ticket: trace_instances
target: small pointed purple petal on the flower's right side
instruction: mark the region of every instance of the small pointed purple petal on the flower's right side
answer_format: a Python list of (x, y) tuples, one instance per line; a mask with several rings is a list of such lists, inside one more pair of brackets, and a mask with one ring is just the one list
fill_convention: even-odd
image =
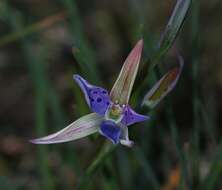
[(136, 113), (130, 106), (124, 108), (124, 116), (121, 121), (123, 125), (129, 126), (134, 123), (142, 122), (149, 119), (149, 116), (141, 115)]

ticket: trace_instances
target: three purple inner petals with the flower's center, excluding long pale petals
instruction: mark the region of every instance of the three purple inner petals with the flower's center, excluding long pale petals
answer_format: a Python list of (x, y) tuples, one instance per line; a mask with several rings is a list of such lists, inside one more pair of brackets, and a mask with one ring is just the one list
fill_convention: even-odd
[(100, 134), (114, 144), (132, 144), (125, 136), (127, 127), (149, 117), (136, 113), (129, 105), (119, 104), (118, 100), (113, 102), (106, 89), (89, 84), (79, 75), (74, 75), (74, 80), (82, 89), (90, 109), (104, 117), (99, 127)]

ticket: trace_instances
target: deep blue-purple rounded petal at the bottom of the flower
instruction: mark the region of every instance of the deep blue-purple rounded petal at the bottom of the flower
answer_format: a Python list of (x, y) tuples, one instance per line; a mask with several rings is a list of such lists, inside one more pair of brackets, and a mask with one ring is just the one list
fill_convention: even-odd
[(114, 122), (106, 120), (100, 125), (100, 134), (112, 141), (113, 144), (119, 143), (121, 129)]

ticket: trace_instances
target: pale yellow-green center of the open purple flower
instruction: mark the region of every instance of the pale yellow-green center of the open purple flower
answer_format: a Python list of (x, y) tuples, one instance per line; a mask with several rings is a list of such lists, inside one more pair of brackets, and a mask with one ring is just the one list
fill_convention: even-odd
[(124, 106), (121, 106), (118, 103), (112, 103), (106, 111), (106, 120), (112, 120), (115, 123), (119, 123), (123, 118), (123, 107)]

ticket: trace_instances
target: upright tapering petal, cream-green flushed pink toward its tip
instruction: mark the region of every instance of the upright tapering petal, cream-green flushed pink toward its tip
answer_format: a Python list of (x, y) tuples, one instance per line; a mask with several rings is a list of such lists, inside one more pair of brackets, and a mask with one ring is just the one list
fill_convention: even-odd
[(140, 40), (128, 55), (120, 74), (110, 92), (113, 102), (127, 104), (137, 75), (140, 57), (143, 49), (143, 40)]

